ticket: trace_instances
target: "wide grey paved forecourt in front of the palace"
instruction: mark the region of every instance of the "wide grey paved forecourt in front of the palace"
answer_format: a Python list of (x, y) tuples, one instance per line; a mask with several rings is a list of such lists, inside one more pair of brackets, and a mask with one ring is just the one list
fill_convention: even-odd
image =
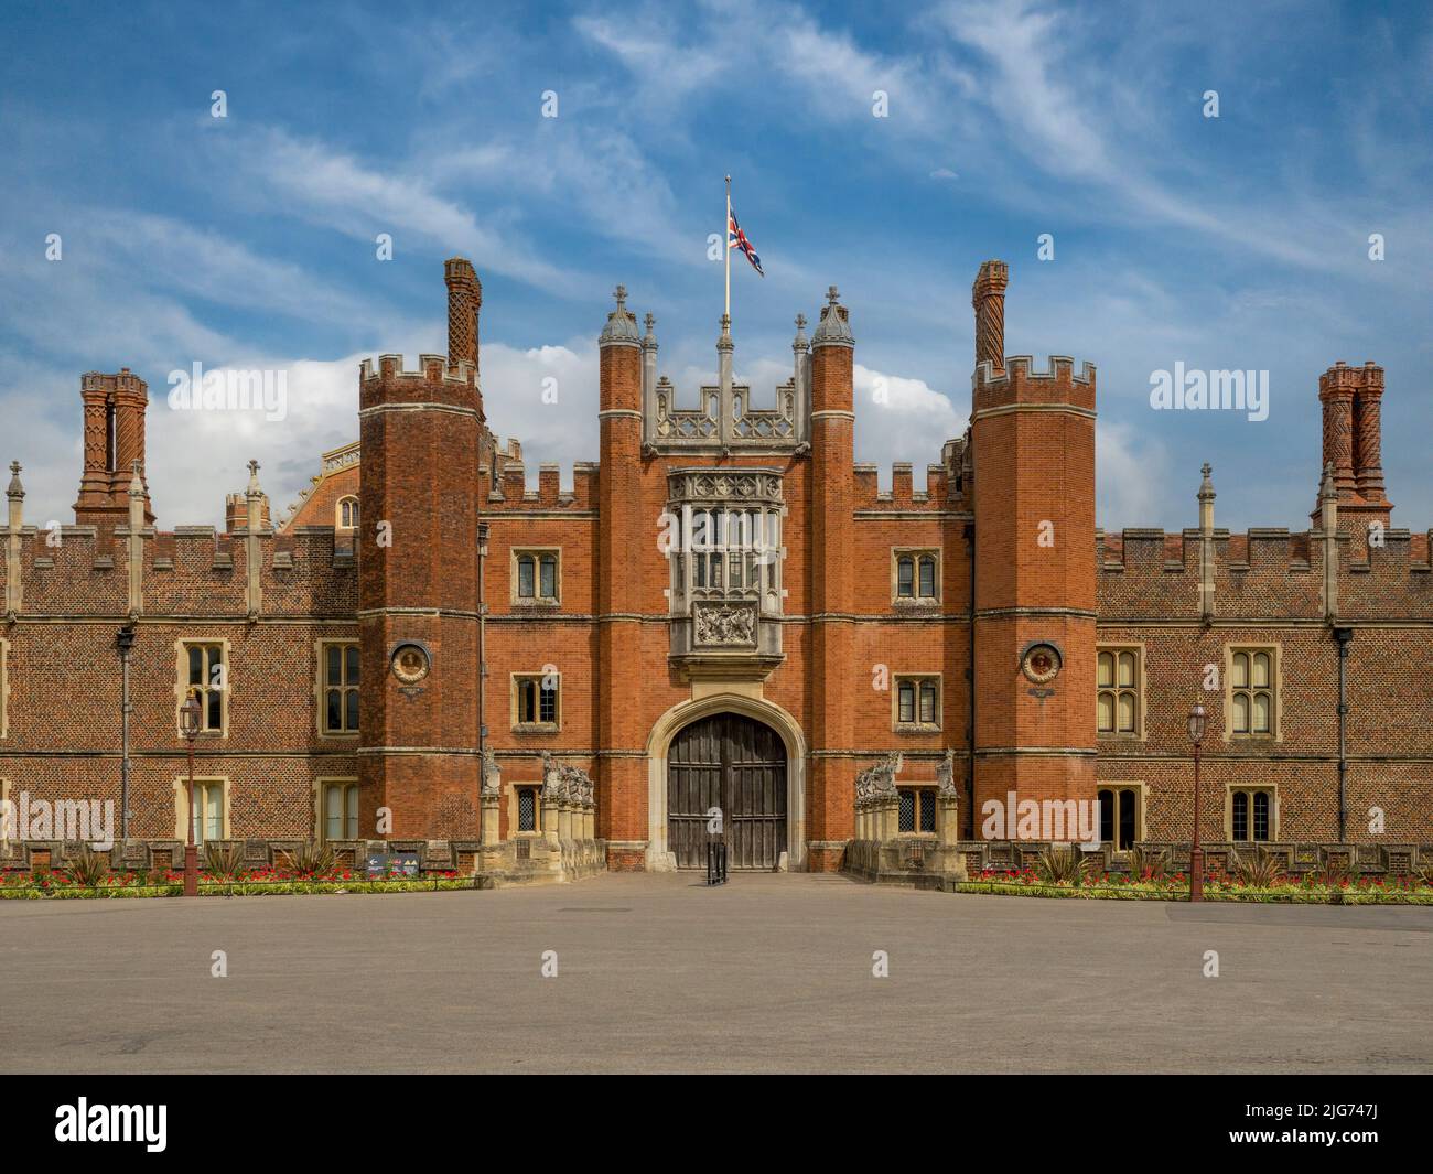
[(9, 900), (0, 989), (9, 1072), (1433, 1071), (1416, 907), (685, 873)]

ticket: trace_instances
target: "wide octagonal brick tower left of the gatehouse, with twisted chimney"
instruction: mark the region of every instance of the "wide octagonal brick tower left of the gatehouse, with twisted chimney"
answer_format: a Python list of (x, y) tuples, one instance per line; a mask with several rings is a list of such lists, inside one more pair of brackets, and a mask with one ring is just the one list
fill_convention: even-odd
[(450, 355), (358, 381), (360, 834), (476, 840), (480, 285), (447, 262)]

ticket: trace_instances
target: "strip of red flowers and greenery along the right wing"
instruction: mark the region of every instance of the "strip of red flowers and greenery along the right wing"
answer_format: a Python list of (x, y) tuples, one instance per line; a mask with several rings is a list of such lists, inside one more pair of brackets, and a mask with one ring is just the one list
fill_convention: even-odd
[[(1085, 897), (1088, 900), (1188, 900), (1184, 873), (1132, 877), (1091, 873), (1078, 884), (1043, 880), (1035, 869), (983, 872), (963, 880), (957, 893), (999, 893), (1022, 897)], [(1328, 882), (1320, 876), (1280, 876), (1270, 884), (1245, 884), (1230, 876), (1204, 882), (1205, 900), (1285, 905), (1433, 905), (1433, 886), (1420, 877), (1357, 877)]]

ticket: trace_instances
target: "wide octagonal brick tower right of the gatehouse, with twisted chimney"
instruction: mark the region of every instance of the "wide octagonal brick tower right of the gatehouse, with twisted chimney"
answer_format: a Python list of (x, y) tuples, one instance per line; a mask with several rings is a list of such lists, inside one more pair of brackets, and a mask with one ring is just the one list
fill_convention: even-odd
[(1005, 358), (1007, 277), (972, 291), (977, 836), (1009, 791), (1095, 797), (1095, 368)]

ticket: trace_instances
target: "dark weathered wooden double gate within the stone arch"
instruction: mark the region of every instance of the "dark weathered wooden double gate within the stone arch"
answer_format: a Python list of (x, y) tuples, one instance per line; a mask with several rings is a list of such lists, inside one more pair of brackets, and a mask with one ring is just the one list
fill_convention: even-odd
[(666, 753), (666, 844), (679, 869), (706, 867), (708, 811), (719, 807), (732, 869), (774, 869), (787, 850), (787, 750), (770, 725), (715, 714)]

